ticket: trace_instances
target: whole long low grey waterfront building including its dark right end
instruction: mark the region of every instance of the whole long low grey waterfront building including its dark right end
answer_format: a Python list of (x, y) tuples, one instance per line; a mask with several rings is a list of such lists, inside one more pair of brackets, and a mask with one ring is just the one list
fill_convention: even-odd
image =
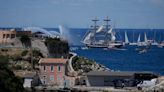
[(144, 80), (157, 78), (152, 72), (91, 71), (86, 74), (87, 86), (132, 87)]

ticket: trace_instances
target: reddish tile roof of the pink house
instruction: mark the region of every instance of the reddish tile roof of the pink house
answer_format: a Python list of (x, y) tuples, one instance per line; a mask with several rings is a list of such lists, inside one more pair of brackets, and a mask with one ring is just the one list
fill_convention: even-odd
[(65, 64), (68, 59), (63, 59), (63, 58), (41, 58), (39, 61), (39, 64)]

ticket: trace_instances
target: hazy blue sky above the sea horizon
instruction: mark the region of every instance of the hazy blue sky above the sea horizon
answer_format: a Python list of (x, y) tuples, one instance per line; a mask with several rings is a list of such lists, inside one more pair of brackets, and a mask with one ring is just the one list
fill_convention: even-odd
[(87, 28), (106, 16), (117, 28), (164, 28), (164, 0), (0, 0), (0, 27)]

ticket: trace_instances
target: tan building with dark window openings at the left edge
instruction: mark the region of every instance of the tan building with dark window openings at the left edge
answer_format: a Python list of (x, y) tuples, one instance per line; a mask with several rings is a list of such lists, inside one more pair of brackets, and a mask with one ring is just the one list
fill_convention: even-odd
[(0, 44), (13, 43), (13, 39), (16, 38), (15, 29), (11, 30), (0, 30)]

